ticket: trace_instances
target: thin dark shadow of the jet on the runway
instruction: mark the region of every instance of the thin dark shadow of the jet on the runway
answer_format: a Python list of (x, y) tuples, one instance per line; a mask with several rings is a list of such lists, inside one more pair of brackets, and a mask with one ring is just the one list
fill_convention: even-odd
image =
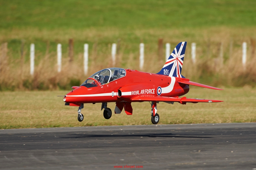
[[(188, 135), (188, 134), (172, 134), (172, 133), (162, 133), (162, 134), (129, 134), (129, 135), (93, 135), (93, 134), (69, 134), (70, 137), (60, 137), (60, 138), (82, 138), (82, 137), (185, 137), (185, 138), (214, 138), (214, 137), (198, 137), (193, 135), (199, 134), (189, 134), (189, 136), (177, 136), (177, 135)], [(207, 134), (200, 134), (200, 136), (205, 136)], [(75, 137), (71, 137), (75, 136)]]

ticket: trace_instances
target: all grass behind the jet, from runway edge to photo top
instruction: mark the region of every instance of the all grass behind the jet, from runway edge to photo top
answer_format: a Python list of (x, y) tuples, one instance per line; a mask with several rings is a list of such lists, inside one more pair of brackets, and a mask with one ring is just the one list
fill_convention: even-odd
[[(165, 47), (158, 55), (159, 38), (171, 49), (188, 42), (182, 75), (225, 89), (192, 87), (186, 95), (222, 103), (160, 103), (160, 123), (255, 122), (255, 30), (256, 1), (252, 0), (0, 0), (0, 128), (151, 124), (146, 102), (134, 103), (129, 119), (122, 113), (108, 121), (99, 115), (100, 106), (86, 105), (82, 112), (90, 121), (80, 123), (74, 116), (77, 108), (65, 107), (56, 97), (67, 91), (55, 90), (70, 90), (103, 68), (139, 70), (140, 42), (145, 44), (142, 71), (158, 72), (165, 63)], [(69, 39), (74, 40), (72, 62)], [(196, 64), (191, 60), (192, 42), (196, 42)], [(247, 42), (245, 67), (243, 42)], [(35, 44), (34, 76), (29, 74), (31, 43)], [(58, 43), (63, 57), (60, 73)], [(83, 70), (84, 43), (89, 44), (88, 75)], [(111, 63), (112, 43), (117, 43), (116, 65)], [(99, 110), (94, 111), (96, 107)]]

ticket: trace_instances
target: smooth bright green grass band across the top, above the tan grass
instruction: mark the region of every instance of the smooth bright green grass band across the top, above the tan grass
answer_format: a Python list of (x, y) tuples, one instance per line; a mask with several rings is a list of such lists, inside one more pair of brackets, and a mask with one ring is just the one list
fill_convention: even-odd
[(256, 26), (252, 0), (0, 1), (0, 29)]

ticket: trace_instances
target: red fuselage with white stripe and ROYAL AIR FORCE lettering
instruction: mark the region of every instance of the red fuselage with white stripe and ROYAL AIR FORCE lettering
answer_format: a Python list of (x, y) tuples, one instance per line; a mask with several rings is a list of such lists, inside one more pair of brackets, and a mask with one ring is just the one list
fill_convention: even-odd
[(179, 97), (189, 91), (189, 85), (178, 81), (189, 81), (186, 78), (170, 77), (137, 70), (125, 69), (126, 75), (95, 87), (83, 85), (69, 92), (64, 99), (66, 103), (103, 103), (131, 102), (136, 96)]

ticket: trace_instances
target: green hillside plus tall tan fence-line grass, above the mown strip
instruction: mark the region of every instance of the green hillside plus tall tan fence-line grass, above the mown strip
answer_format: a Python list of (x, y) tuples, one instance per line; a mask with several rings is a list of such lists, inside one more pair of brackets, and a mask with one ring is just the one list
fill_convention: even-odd
[[(80, 85), (97, 70), (114, 66), (112, 43), (119, 44), (115, 67), (138, 69), (143, 42), (142, 71), (155, 73), (165, 62), (164, 52), (158, 56), (159, 38), (171, 43), (171, 49), (180, 41), (188, 42), (185, 77), (208, 85), (256, 84), (256, 1), (0, 0), (0, 18), (0, 43), (8, 43), (6, 57), (0, 50), (0, 91)], [(74, 39), (73, 63), (68, 62), (70, 38)], [(195, 65), (191, 65), (192, 42), (197, 47)], [(247, 42), (246, 70), (241, 66), (243, 42)], [(29, 75), (31, 43), (35, 43), (34, 77)], [(56, 68), (58, 43), (62, 44), (61, 73)], [(84, 43), (89, 44), (88, 75), (82, 62)]]

